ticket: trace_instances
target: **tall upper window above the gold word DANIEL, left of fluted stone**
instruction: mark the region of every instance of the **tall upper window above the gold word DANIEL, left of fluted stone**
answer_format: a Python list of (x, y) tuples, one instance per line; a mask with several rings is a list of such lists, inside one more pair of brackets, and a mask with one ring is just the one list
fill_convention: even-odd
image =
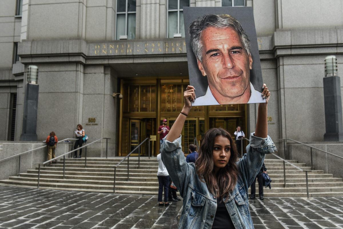
[(120, 35), (136, 38), (136, 0), (117, 0), (117, 40)]

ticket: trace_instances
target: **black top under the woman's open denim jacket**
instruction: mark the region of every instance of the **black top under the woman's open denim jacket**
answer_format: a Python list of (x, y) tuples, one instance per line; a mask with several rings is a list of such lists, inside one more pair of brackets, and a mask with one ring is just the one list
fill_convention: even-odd
[(221, 198), (217, 198), (217, 210), (215, 212), (212, 229), (235, 229), (224, 202), (221, 202)]

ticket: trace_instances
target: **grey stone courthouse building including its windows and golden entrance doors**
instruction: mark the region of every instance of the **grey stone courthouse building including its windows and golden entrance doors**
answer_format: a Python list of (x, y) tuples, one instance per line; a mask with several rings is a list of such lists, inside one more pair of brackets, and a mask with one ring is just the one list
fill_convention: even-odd
[[(29, 65), (38, 67), (38, 141), (72, 137), (80, 123), (125, 156), (163, 119), (171, 126), (189, 84), (185, 6), (253, 7), (269, 134), (323, 141), (324, 58), (343, 68), (341, 0), (2, 0), (0, 140), (20, 140)], [(257, 104), (193, 107), (182, 147), (212, 127), (248, 135), (256, 117)], [(158, 147), (157, 136), (154, 155)]]

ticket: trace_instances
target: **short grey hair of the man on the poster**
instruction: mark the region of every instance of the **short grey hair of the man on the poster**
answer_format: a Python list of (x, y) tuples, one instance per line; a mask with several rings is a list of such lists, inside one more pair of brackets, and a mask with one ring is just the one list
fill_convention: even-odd
[(191, 47), (194, 55), (198, 60), (202, 62), (202, 47), (200, 37), (201, 33), (205, 28), (210, 26), (216, 28), (233, 28), (238, 33), (241, 43), (245, 51), (250, 54), (250, 40), (248, 35), (244, 32), (240, 23), (228, 14), (208, 14), (203, 17), (199, 17), (197, 20), (193, 21), (189, 26), (188, 32), (191, 39)]

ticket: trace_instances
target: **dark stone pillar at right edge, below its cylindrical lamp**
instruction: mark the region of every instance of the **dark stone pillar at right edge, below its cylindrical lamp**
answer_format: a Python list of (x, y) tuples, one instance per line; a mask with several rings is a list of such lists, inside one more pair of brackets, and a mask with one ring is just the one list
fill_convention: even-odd
[(324, 77), (324, 141), (343, 142), (341, 81), (339, 76)]

